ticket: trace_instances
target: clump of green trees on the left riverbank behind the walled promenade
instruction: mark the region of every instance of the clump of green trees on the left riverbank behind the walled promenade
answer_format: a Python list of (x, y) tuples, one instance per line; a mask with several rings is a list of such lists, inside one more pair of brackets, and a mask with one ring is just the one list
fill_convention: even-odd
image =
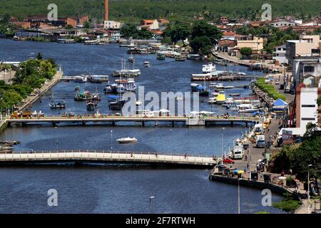
[(56, 74), (56, 63), (53, 59), (42, 59), (38, 54), (37, 59), (22, 62), (16, 69), (12, 84), (0, 81), (0, 110), (12, 110), (27, 95), (35, 89), (41, 88), (46, 80), (51, 80)]

